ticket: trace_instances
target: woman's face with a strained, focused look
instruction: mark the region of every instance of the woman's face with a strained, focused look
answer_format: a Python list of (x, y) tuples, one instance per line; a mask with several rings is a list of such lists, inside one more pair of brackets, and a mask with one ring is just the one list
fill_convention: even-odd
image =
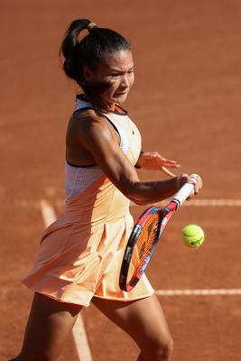
[(98, 63), (95, 70), (84, 67), (83, 74), (90, 83), (107, 82), (110, 86), (103, 91), (101, 98), (112, 108), (122, 104), (134, 83), (134, 61), (132, 51), (118, 51), (110, 54), (106, 62)]

